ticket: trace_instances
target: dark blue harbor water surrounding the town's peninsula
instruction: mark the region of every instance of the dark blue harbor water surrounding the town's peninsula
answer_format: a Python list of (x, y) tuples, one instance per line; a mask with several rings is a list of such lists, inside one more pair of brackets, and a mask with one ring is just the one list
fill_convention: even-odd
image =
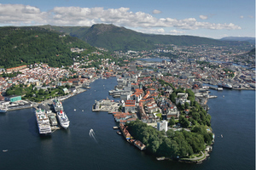
[(1, 113), (0, 169), (255, 169), (255, 91), (211, 90), (218, 96), (208, 101), (213, 151), (201, 164), (184, 164), (137, 150), (113, 129), (111, 114), (91, 111), (95, 100), (113, 99), (108, 90), (116, 84), (98, 79), (63, 101), (70, 126), (49, 137), (39, 136), (34, 109)]

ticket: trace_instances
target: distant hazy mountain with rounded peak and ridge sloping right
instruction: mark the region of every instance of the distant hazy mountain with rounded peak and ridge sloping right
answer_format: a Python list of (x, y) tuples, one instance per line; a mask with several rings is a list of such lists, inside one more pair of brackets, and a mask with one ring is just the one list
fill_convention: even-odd
[[(44, 28), (63, 31), (70, 36), (79, 37), (81, 40), (90, 43), (91, 46), (108, 48), (109, 50), (145, 50), (154, 49), (155, 44), (175, 44), (183, 46), (193, 45), (232, 45), (236, 42), (224, 42), (207, 37), (193, 36), (171, 36), (143, 34), (137, 31), (126, 29), (125, 27), (96, 24), (87, 26), (44, 26)], [(239, 42), (240, 44), (247, 42)]]

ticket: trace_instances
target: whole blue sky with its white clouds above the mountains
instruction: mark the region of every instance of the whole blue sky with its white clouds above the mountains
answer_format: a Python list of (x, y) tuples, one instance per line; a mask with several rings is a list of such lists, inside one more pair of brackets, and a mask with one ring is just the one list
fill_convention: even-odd
[(254, 0), (0, 0), (0, 26), (92, 26), (143, 33), (255, 37)]

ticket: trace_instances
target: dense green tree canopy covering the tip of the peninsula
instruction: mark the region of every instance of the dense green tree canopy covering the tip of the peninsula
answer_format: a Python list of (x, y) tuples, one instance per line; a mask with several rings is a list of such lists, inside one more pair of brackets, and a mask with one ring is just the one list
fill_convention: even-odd
[(172, 158), (191, 156), (205, 150), (205, 143), (212, 142), (212, 133), (207, 133), (204, 126), (196, 126), (192, 132), (168, 130), (165, 134), (139, 120), (127, 125), (131, 135), (141, 140), (147, 146), (148, 152), (156, 156)]

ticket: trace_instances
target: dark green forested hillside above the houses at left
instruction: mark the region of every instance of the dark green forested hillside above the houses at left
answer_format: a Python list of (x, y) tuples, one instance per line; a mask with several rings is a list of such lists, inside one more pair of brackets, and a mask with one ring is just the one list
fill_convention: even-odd
[(0, 66), (4, 68), (39, 62), (54, 67), (73, 65), (75, 54), (70, 48), (96, 50), (77, 37), (36, 26), (0, 27)]

